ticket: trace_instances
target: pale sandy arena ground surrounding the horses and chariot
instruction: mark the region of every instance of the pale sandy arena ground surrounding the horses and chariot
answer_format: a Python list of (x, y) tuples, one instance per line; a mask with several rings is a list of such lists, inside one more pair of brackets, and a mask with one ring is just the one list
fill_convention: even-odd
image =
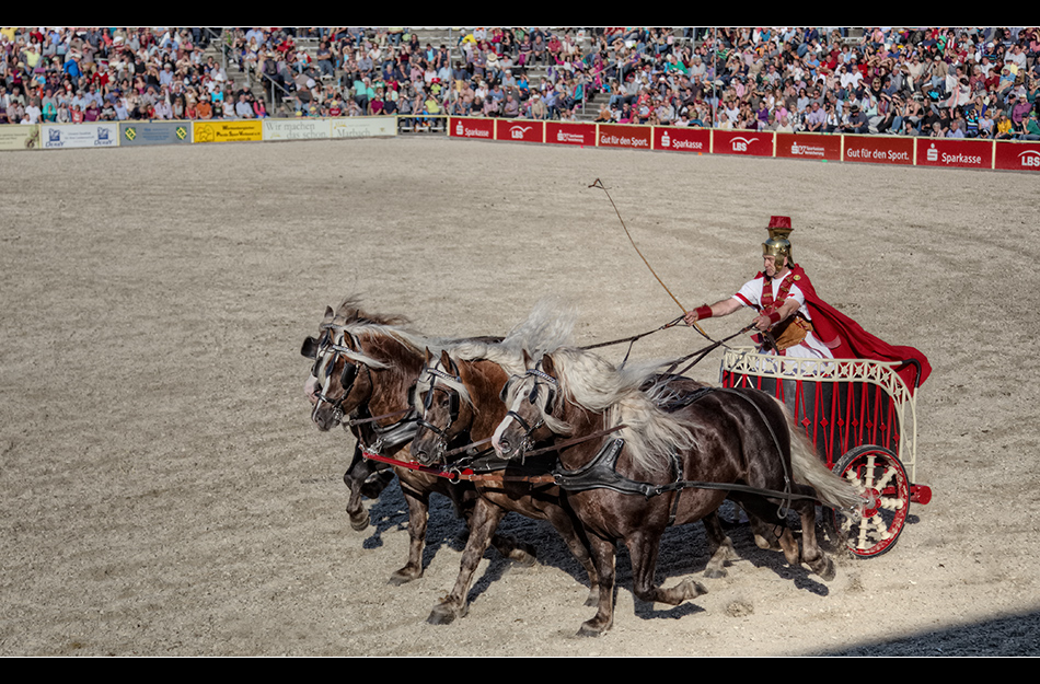
[[(437, 499), (425, 577), (388, 584), (403, 498), (350, 529), (353, 439), (311, 424), (300, 344), (354, 292), (431, 335), (504, 334), (548, 293), (582, 344), (671, 320), (596, 178), (687, 308), (793, 217), (820, 294), (928, 355), (935, 498), (827, 583), (741, 528), (729, 576), (668, 608), (622, 552), (600, 639), (574, 636), (593, 610), (556, 533), (510, 515), (540, 565), (488, 552), (469, 617), (428, 625), (463, 526)], [(0, 181), (0, 654), (1040, 654), (1035, 175), (402, 138), (7, 153)], [(671, 530), (658, 578), (700, 579), (704, 550)]]

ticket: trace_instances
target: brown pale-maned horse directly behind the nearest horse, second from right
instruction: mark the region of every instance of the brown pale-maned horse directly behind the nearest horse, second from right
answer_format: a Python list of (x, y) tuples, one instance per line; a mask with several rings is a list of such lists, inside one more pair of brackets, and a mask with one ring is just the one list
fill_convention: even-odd
[(555, 453), (542, 456), (541, 467), (531, 463), (532, 459), (524, 467), (510, 464), (502, 469), (501, 461), (489, 447), (483, 453), (475, 448), (465, 449), (473, 442), (479, 445), (490, 441), (495, 428), (506, 417), (501, 389), (511, 373), (522, 372), (523, 358), (500, 345), (472, 343), (454, 347), (452, 353), (454, 358), (443, 350), (436, 359), (427, 352), (426, 368), (415, 392), (419, 428), (412, 442), (412, 455), (425, 465), (457, 464), (485, 476), (473, 480), (481, 498), (473, 510), (455, 586), (434, 606), (428, 622), (448, 624), (465, 616), (473, 575), (492, 535), (509, 511), (552, 523), (588, 572), (591, 589), (586, 605), (596, 605), (598, 582), (588, 541), (559, 488), (544, 477), (555, 463)]

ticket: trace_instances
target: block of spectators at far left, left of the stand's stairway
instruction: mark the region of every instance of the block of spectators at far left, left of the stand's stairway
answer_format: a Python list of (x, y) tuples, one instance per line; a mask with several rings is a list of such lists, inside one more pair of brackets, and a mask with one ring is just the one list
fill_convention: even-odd
[(0, 123), (252, 118), (263, 98), (235, 90), (207, 47), (219, 30), (0, 30)]

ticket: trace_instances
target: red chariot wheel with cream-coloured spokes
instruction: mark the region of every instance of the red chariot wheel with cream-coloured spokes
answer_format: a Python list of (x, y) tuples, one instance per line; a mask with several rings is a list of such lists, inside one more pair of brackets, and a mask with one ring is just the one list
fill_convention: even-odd
[(910, 512), (910, 478), (903, 464), (888, 449), (865, 445), (842, 456), (834, 473), (854, 483), (873, 500), (862, 515), (832, 511), (839, 538), (858, 558), (873, 558), (890, 550)]

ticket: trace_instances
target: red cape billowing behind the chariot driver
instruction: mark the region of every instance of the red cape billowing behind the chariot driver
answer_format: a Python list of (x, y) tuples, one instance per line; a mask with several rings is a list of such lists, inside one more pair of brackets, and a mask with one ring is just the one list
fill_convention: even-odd
[[(875, 361), (906, 361), (913, 359), (921, 364), (921, 378), (917, 369), (908, 364), (899, 371), (900, 378), (911, 392), (924, 384), (932, 373), (927, 357), (913, 347), (895, 347), (863, 329), (858, 323), (820, 299), (809, 276), (801, 266), (791, 267), (796, 285), (806, 295), (806, 308), (812, 317), (816, 336), (831, 349), (835, 359), (873, 359)], [(762, 277), (759, 274), (756, 277)]]

